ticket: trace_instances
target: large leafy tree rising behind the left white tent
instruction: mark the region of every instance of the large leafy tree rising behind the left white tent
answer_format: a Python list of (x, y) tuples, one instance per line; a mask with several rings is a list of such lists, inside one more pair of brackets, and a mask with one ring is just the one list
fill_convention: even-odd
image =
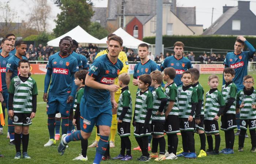
[(56, 36), (65, 34), (76, 26), (88, 30), (90, 19), (94, 14), (91, 4), (85, 0), (60, 0), (61, 13), (57, 15), (56, 28), (53, 32)]

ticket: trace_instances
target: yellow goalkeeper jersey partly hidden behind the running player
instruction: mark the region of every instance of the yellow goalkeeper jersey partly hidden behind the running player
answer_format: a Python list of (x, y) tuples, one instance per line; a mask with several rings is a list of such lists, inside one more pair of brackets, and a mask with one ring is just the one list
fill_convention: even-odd
[[(108, 53), (109, 53), (108, 49), (103, 50), (103, 51), (99, 52), (99, 53), (96, 55), (95, 59), (98, 58), (98, 57), (101, 56), (101, 55), (108, 54)], [(128, 69), (129, 69), (128, 59), (127, 59), (127, 56), (126, 56), (126, 54), (125, 54), (124, 51), (121, 51), (121, 52), (119, 53), (118, 59), (121, 60), (121, 62), (123, 62), (123, 65), (124, 65), (123, 68), (122, 68), (122, 70), (119, 72), (118, 75), (120, 75), (120, 74), (122, 74), (122, 73), (128, 73)], [(114, 84), (115, 84), (115, 85), (118, 85), (118, 77), (115, 79)], [(116, 91), (116, 94), (121, 94), (121, 88), (119, 88), (119, 89)]]

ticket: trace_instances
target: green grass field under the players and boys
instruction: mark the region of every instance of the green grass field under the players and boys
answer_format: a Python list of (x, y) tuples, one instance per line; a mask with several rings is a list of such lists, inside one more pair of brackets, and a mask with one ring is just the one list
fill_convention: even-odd
[[(253, 74), (253, 76), (256, 78), (256, 75)], [(7, 134), (7, 126), (4, 127), (4, 134), (0, 135), (0, 151), (1, 154), (3, 154), (5, 157), (0, 159), (1, 164), (8, 164), (8, 163), (37, 163), (37, 164), (45, 164), (45, 163), (82, 163), (82, 161), (72, 161), (73, 158), (79, 155), (80, 153), (80, 141), (77, 142), (71, 142), (69, 144), (69, 148), (66, 149), (65, 154), (63, 156), (60, 156), (57, 153), (57, 145), (59, 144), (59, 141), (57, 141), (57, 144), (52, 147), (44, 147), (44, 144), (48, 141), (49, 133), (47, 128), (47, 115), (46, 115), (46, 104), (42, 100), (43, 96), (43, 90), (44, 90), (44, 75), (33, 75), (32, 76), (37, 81), (38, 86), (38, 98), (37, 98), (37, 113), (35, 118), (33, 119), (33, 125), (30, 126), (30, 141), (29, 141), (29, 148), (28, 153), (31, 156), (30, 160), (20, 159), (15, 160), (15, 146), (9, 145), (9, 140), (6, 139)], [(201, 75), (199, 82), (204, 87), (205, 92), (209, 90), (209, 87), (207, 85), (207, 77), (208, 75)], [(222, 84), (222, 75), (219, 75), (219, 78), (221, 79)], [(219, 89), (221, 89), (221, 84), (219, 85)], [(132, 83), (129, 85), (129, 89), (132, 93), (132, 99), (133, 99), (133, 108), (135, 103), (135, 92), (137, 90), (137, 87), (133, 86)], [(7, 122), (7, 119), (5, 118), (5, 122)], [(220, 124), (219, 124), (220, 125)], [(131, 132), (133, 132), (133, 126), (131, 125)], [(225, 147), (225, 138), (223, 131), (220, 130), (221, 133), (221, 146), (220, 149)], [(249, 135), (249, 132), (248, 132)], [(166, 137), (166, 136), (165, 136)], [(178, 143), (178, 150), (182, 148), (182, 142), (181, 142), (181, 136), (178, 136), (179, 143)], [(94, 141), (95, 139), (95, 129), (89, 138), (89, 145)], [(130, 136), (131, 142), (132, 142), (132, 148), (137, 147), (137, 142), (132, 135)], [(120, 137), (116, 135), (116, 141), (115, 141), (115, 148), (110, 149), (110, 155), (111, 157), (117, 156), (120, 153)], [(207, 144), (206, 144), (207, 145)], [(208, 146), (206, 146), (207, 148)], [(166, 148), (167, 148), (167, 140), (166, 140)], [(195, 134), (195, 148), (196, 153), (198, 155), (200, 151), (200, 140), (199, 135)], [(238, 150), (238, 137), (236, 136), (235, 144), (234, 144), (234, 151), (235, 153), (233, 155), (218, 155), (218, 156), (207, 156), (204, 158), (197, 158), (195, 160), (189, 160), (184, 158), (178, 158), (178, 160), (171, 161), (166, 160), (162, 163), (255, 163), (255, 156), (256, 153), (251, 153), (251, 139), (245, 138), (245, 151), (244, 152), (237, 152)], [(88, 148), (87, 156), (88, 161), (86, 163), (93, 163), (95, 155), (95, 148)], [(141, 152), (139, 151), (132, 151), (133, 160), (127, 161), (127, 163), (138, 163), (136, 161), (137, 157), (141, 156)], [(102, 161), (102, 163), (120, 163), (120, 161), (114, 161), (114, 160), (108, 160), (108, 161)], [(121, 161), (122, 163), (122, 161)], [(126, 162), (123, 162), (126, 163)], [(151, 160), (148, 163), (155, 163), (155, 161)]]

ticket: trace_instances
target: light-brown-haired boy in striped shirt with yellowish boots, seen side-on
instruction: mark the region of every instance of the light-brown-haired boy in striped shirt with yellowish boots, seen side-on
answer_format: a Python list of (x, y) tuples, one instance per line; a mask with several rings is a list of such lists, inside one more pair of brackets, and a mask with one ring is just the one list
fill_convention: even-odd
[[(163, 130), (165, 126), (165, 115), (163, 108), (167, 103), (167, 98), (163, 92), (161, 83), (163, 82), (163, 75), (161, 71), (153, 71), (150, 73), (152, 78), (151, 87), (154, 87), (153, 94), (153, 111), (152, 111), (152, 153), (150, 158), (156, 158), (155, 161), (165, 160), (165, 137)], [(159, 143), (159, 156), (157, 153)]]

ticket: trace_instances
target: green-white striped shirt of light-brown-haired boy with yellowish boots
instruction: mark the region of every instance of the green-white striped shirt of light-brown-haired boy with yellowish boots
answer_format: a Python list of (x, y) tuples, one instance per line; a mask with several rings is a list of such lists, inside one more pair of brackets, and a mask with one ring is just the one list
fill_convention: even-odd
[(166, 98), (165, 93), (163, 92), (162, 86), (158, 86), (152, 92), (153, 95), (153, 111), (152, 111), (152, 121), (165, 121), (165, 115), (162, 116), (157, 114), (157, 111), (161, 105), (161, 99)]

